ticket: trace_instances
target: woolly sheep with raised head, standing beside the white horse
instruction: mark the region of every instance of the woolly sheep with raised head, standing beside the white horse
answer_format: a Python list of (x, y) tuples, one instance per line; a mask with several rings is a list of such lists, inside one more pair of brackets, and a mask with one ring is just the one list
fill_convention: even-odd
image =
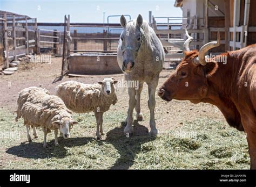
[(103, 113), (108, 111), (111, 104), (117, 103), (116, 88), (118, 81), (114, 78), (104, 78), (97, 84), (83, 84), (76, 81), (67, 81), (57, 86), (56, 95), (59, 96), (66, 107), (73, 112), (87, 113), (94, 111), (97, 121), (97, 139), (103, 133)]

